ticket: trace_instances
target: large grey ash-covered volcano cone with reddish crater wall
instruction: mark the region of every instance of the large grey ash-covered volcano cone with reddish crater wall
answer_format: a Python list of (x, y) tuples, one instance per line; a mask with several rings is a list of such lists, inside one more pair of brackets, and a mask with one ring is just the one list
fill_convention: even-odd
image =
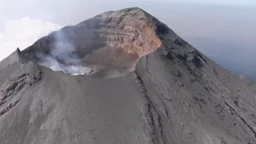
[[(135, 29), (128, 33), (127, 25)], [(98, 71), (71, 76), (38, 65), (36, 53), (50, 53), (52, 34), (16, 50), (0, 63), (1, 144), (256, 143), (255, 86), (150, 14), (110, 11), (68, 28), (97, 36), (88, 44), (94, 49), (74, 47), (82, 50), (79, 63)]]

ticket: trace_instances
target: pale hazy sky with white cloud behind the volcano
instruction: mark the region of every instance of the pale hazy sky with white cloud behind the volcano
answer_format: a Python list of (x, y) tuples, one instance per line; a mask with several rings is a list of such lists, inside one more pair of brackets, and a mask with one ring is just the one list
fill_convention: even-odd
[(0, 59), (51, 30), (133, 6), (154, 15), (205, 53), (209, 48), (200, 38), (222, 40), (227, 50), (237, 46), (256, 54), (256, 0), (0, 0)]

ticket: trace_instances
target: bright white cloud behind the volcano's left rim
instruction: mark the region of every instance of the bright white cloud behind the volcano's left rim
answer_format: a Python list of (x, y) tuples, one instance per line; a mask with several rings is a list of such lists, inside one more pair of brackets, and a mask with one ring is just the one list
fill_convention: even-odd
[(40, 19), (28, 17), (7, 20), (0, 28), (0, 61), (10, 55), (17, 47), (24, 50), (39, 38), (52, 31), (61, 29), (62, 26)]

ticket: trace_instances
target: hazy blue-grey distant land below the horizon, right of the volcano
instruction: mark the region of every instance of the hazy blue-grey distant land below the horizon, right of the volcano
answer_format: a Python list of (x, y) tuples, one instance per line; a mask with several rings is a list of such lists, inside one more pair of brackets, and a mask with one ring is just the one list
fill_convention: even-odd
[(256, 81), (254, 50), (218, 38), (185, 39), (232, 74), (243, 74)]

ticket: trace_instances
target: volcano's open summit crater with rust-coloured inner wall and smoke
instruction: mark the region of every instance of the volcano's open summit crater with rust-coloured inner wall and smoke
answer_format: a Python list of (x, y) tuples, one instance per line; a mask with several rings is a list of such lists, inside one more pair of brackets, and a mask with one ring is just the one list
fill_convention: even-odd
[(161, 46), (155, 31), (153, 19), (141, 9), (110, 11), (49, 34), (23, 53), (54, 71), (118, 77)]

